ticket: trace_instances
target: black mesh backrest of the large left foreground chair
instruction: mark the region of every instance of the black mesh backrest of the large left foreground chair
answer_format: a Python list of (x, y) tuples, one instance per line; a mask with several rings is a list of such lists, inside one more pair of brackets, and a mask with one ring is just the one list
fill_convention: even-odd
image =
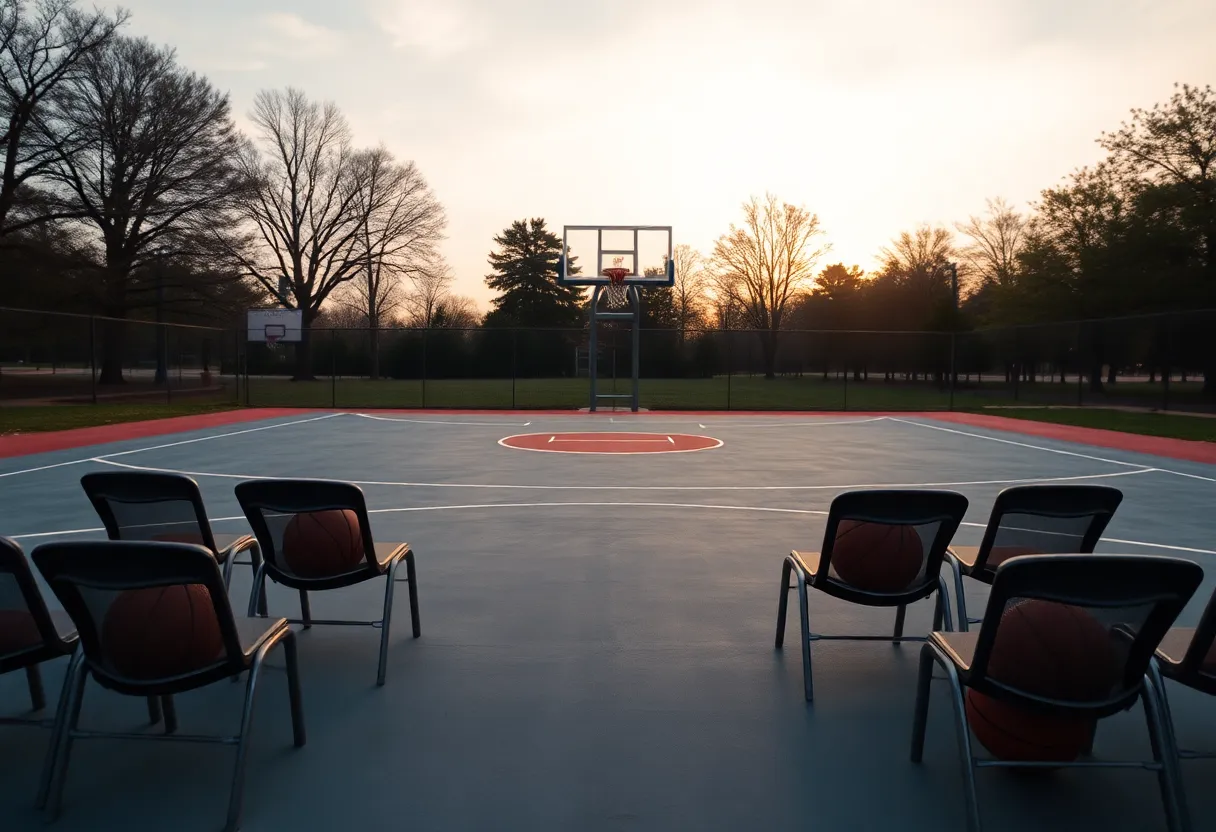
[(203, 546), (50, 543), (32, 557), (102, 685), (135, 691), (242, 667), (224, 578)]

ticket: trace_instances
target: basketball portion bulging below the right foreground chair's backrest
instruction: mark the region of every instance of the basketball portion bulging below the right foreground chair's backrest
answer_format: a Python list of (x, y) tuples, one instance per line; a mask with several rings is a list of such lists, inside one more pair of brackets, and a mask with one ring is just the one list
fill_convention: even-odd
[(1068, 763), (1080, 757), (1093, 731), (1093, 720), (1040, 714), (975, 691), (967, 691), (967, 721), (1001, 760)]

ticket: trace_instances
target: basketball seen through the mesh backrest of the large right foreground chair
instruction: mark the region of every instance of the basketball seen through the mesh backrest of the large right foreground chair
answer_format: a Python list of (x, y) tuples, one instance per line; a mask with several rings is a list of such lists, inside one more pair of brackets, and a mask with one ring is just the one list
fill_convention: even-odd
[(1001, 617), (987, 673), (1052, 699), (1093, 701), (1119, 682), (1121, 663), (1107, 628), (1081, 607), (1019, 601)]

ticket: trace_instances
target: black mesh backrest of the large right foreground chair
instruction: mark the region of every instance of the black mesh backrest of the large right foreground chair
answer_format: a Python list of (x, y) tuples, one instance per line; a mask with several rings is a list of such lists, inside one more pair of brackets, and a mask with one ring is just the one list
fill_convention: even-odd
[(1203, 577), (1169, 557), (1010, 558), (996, 570), (967, 684), (1032, 708), (1122, 710)]

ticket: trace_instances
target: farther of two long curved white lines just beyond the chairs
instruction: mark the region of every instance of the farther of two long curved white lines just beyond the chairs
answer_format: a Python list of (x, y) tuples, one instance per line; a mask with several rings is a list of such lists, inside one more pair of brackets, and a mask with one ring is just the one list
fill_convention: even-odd
[[(215, 477), (218, 479), (276, 479), (264, 474), (241, 473), (212, 473), (208, 471), (181, 471), (179, 468), (157, 468), (153, 466), (129, 465), (126, 462), (113, 462), (111, 460), (97, 459), (96, 462), (112, 465), (118, 468), (130, 468), (131, 471), (162, 471), (168, 473), (180, 473), (187, 477)], [(1142, 473), (1152, 473), (1156, 468), (1141, 468), (1138, 471), (1115, 471), (1100, 474), (1077, 474), (1073, 477), (1030, 477), (1023, 479), (974, 479), (958, 483), (845, 483), (834, 485), (523, 485), (516, 483), (410, 483), (410, 482), (383, 482), (368, 479), (349, 479), (354, 485), (383, 485), (387, 488), (484, 488), (484, 489), (517, 489), (534, 491), (824, 491), (846, 490), (852, 488), (956, 488), (962, 485), (1020, 485), (1029, 483), (1070, 483), (1085, 479), (1110, 479), (1114, 477), (1133, 477)], [(297, 478), (299, 479), (299, 478)], [(305, 478), (306, 479), (306, 478)]]

